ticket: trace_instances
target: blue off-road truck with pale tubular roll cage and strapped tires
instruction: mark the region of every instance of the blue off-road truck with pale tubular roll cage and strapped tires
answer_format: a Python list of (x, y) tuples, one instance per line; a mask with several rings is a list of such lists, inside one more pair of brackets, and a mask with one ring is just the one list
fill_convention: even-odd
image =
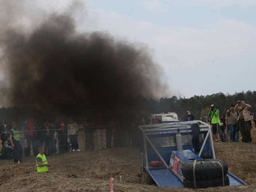
[(172, 122), (141, 125), (139, 129), (143, 138), (141, 169), (148, 172), (156, 185), (191, 188), (246, 185), (228, 172), (225, 161), (215, 158), (209, 124)]

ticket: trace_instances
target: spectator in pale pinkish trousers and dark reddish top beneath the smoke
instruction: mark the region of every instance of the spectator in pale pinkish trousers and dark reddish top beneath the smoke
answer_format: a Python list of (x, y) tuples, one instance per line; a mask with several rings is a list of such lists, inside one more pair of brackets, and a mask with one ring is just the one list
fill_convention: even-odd
[(102, 113), (98, 114), (98, 121), (97, 121), (97, 138), (98, 138), (98, 149), (106, 149), (106, 123), (103, 119)]

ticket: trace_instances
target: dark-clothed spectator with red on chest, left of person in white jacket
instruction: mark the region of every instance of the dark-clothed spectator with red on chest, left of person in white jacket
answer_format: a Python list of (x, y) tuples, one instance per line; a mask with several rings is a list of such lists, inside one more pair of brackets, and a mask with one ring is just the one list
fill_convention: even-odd
[(67, 152), (67, 136), (68, 136), (68, 124), (65, 121), (64, 116), (60, 116), (60, 121), (56, 123), (56, 129), (58, 133), (59, 141), (59, 153)]

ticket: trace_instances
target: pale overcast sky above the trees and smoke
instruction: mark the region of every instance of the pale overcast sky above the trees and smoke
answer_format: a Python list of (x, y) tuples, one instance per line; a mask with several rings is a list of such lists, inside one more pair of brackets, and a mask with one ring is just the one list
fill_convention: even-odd
[[(72, 1), (35, 2), (56, 11)], [(170, 95), (256, 90), (256, 0), (84, 2), (86, 9), (76, 15), (79, 30), (148, 44), (164, 68)]]

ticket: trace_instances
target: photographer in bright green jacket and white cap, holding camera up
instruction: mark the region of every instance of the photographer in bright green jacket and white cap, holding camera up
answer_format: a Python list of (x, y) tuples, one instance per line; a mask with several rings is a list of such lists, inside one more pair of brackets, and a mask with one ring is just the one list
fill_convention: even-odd
[(215, 142), (218, 142), (220, 141), (220, 110), (215, 108), (212, 104), (208, 116), (211, 118), (210, 124), (212, 124), (213, 138), (215, 139)]

